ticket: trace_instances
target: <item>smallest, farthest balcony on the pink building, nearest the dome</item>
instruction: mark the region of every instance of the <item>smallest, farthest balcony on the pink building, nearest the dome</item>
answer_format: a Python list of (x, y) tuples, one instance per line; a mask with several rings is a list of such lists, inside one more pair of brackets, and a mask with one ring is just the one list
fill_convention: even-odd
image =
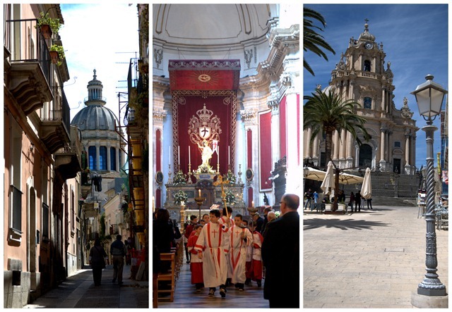
[(71, 126), (71, 144), (66, 145), (55, 153), (55, 167), (64, 180), (76, 177), (82, 170), (81, 163), (81, 133), (78, 127)]

